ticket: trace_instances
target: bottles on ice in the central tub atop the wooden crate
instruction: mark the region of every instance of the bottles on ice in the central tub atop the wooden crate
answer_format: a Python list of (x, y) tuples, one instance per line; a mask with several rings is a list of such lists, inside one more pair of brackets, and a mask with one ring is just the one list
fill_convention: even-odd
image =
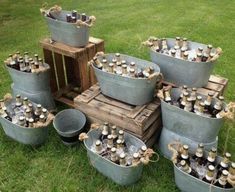
[(100, 70), (124, 77), (148, 78), (154, 73), (153, 67), (140, 68), (134, 61), (127, 62), (125, 59), (122, 59), (119, 53), (116, 53), (111, 61), (107, 60), (105, 56), (101, 60), (94, 57), (93, 61)]

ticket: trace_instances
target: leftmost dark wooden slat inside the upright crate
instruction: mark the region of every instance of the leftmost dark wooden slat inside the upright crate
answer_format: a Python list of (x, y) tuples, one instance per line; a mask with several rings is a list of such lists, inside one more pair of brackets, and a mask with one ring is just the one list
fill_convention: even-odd
[(55, 76), (55, 68), (54, 68), (54, 63), (53, 63), (53, 56), (52, 52), (47, 49), (43, 49), (43, 54), (44, 54), (44, 61), (50, 66), (50, 86), (51, 86), (51, 91), (55, 92), (58, 90), (57, 83), (56, 83), (56, 76)]

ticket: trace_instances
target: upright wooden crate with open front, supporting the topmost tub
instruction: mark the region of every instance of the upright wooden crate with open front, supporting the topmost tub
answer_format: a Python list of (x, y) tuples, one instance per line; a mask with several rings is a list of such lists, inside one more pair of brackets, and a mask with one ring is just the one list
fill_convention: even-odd
[[(96, 52), (104, 51), (104, 41), (89, 38), (89, 44), (84, 48), (75, 48), (59, 42), (51, 42), (49, 38), (40, 41), (45, 62), (51, 68), (51, 90), (56, 100), (62, 95), (73, 91), (82, 92), (96, 83), (94, 71), (88, 65)], [(79, 91), (78, 91), (79, 90)]]

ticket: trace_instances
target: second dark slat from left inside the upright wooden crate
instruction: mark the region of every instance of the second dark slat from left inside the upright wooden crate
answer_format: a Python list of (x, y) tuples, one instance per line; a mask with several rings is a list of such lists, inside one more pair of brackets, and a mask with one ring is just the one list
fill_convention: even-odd
[(56, 64), (56, 72), (59, 81), (59, 87), (65, 87), (65, 75), (64, 75), (64, 67), (63, 67), (63, 60), (62, 55), (58, 53), (54, 53), (55, 56), (55, 64)]

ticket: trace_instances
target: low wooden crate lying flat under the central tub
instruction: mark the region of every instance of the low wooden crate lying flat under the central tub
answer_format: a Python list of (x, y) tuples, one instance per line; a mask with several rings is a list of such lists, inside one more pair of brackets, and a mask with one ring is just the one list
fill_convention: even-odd
[(84, 112), (91, 123), (108, 121), (148, 146), (154, 144), (161, 131), (161, 108), (157, 98), (147, 105), (133, 106), (104, 96), (96, 84), (74, 98), (74, 106)]

